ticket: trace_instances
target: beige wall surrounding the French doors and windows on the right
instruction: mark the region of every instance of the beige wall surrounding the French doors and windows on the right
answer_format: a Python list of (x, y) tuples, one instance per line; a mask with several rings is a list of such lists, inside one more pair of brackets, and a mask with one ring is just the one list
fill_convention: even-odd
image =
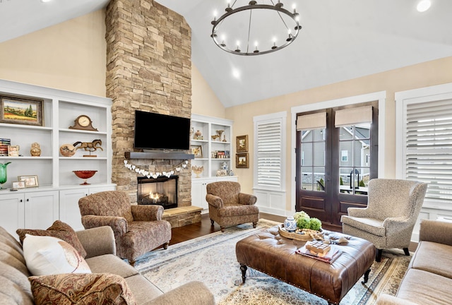
[[(386, 163), (384, 172), (386, 178), (394, 178), (396, 176), (396, 102), (394, 93), (403, 90), (422, 88), (431, 85), (440, 85), (443, 83), (452, 83), (452, 57), (428, 61), (422, 64), (416, 64), (405, 68), (398, 68), (383, 73), (377, 73), (371, 76), (346, 80), (340, 83), (325, 85), (319, 88), (303, 90), (292, 93), (290, 95), (282, 95), (273, 97), (268, 100), (261, 100), (244, 104), (242, 106), (230, 107), (226, 109), (227, 119), (234, 120), (234, 136), (249, 136), (249, 152), (250, 152), (250, 168), (234, 169), (239, 176), (239, 182), (242, 184), (242, 191), (252, 192), (253, 187), (253, 118), (263, 114), (275, 112), (287, 112), (287, 166), (291, 165), (291, 108), (303, 104), (311, 104), (315, 102), (324, 102), (328, 100), (336, 100), (343, 97), (351, 97), (355, 95), (363, 95), (371, 92), (379, 92), (386, 90), (386, 135), (385, 152)], [(252, 114), (252, 116), (250, 115)], [(290, 194), (292, 184), (290, 169), (286, 174), (286, 191), (287, 201), (286, 209), (290, 210)], [(295, 204), (295, 203), (294, 203)]]

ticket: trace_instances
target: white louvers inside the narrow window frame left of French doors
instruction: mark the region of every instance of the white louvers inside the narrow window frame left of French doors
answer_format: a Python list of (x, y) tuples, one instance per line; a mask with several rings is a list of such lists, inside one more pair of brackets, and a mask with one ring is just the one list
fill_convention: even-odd
[(256, 126), (258, 186), (281, 187), (282, 136), (281, 119), (258, 122)]

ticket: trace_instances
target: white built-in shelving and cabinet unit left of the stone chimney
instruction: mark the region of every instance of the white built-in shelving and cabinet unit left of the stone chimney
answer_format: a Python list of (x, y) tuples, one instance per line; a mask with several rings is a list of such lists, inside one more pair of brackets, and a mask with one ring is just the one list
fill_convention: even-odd
[[(105, 97), (44, 88), (36, 85), (0, 80), (0, 96), (42, 101), (42, 126), (2, 123), (0, 138), (19, 145), (18, 157), (0, 156), (8, 165), (8, 180), (0, 190), (0, 223), (10, 232), (18, 227), (46, 229), (60, 219), (83, 229), (78, 210), (78, 198), (97, 191), (115, 189), (112, 177), (112, 101)], [(85, 114), (97, 131), (71, 129), (74, 120)], [(60, 154), (63, 144), (78, 141), (91, 143), (100, 139), (102, 145), (94, 152), (76, 150), (71, 157)], [(32, 156), (32, 143), (39, 143), (40, 156)], [(96, 155), (96, 157), (84, 157)], [(73, 170), (97, 170), (88, 179), (90, 185), (76, 177)], [(18, 176), (36, 175), (39, 186), (11, 191)]]

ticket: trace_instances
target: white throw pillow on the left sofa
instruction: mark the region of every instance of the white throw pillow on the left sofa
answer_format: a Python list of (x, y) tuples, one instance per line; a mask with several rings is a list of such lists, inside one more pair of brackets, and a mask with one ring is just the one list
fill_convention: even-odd
[(32, 275), (91, 273), (80, 253), (57, 237), (25, 234), (23, 257)]

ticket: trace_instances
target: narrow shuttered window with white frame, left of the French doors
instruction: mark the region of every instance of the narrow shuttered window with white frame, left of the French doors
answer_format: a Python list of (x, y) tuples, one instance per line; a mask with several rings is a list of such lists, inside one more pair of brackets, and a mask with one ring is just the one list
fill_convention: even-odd
[(286, 113), (254, 117), (254, 188), (285, 189)]

